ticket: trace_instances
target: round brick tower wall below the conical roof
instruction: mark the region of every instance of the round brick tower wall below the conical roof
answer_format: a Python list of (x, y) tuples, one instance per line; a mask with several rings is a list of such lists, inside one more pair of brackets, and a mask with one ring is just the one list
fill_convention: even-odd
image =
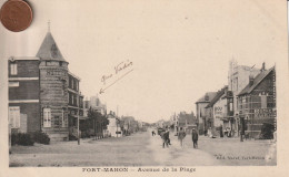
[[(41, 110), (51, 108), (51, 127), (43, 127), (43, 129), (51, 131), (66, 127), (68, 133), (68, 127), (66, 126), (68, 124), (67, 63), (60, 65), (59, 61), (49, 61), (49, 63), (48, 61), (42, 61), (39, 69)], [(62, 122), (62, 118), (64, 122)]]

